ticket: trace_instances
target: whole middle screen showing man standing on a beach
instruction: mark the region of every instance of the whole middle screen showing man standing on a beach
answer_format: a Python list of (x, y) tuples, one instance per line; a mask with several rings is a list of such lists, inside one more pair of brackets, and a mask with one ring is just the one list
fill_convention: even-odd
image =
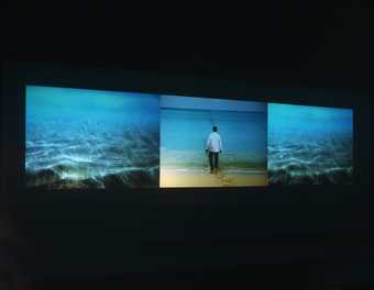
[(266, 103), (161, 96), (161, 187), (267, 186), (266, 154)]

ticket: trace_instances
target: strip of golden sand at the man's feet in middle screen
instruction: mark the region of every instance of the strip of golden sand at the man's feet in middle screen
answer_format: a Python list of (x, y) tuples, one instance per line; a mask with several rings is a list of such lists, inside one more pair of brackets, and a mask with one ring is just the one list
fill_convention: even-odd
[(267, 174), (228, 174), (219, 171), (177, 171), (162, 169), (160, 187), (260, 187), (267, 186)]

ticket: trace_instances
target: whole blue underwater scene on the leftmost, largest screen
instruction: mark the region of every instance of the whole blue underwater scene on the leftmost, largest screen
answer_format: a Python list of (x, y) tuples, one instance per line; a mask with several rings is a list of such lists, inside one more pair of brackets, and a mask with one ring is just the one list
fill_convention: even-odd
[(28, 86), (29, 186), (157, 186), (158, 96)]

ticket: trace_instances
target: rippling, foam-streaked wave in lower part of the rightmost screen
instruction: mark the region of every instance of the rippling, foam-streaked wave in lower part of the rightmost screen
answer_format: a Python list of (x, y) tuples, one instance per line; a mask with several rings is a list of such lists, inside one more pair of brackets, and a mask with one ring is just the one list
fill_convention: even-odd
[(352, 141), (346, 137), (273, 142), (268, 146), (270, 183), (352, 183)]

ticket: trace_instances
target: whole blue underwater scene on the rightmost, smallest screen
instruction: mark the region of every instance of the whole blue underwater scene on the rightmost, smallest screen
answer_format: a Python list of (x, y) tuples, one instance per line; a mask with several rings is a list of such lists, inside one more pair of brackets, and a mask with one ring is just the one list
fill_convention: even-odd
[(270, 183), (352, 183), (352, 110), (268, 104)]

